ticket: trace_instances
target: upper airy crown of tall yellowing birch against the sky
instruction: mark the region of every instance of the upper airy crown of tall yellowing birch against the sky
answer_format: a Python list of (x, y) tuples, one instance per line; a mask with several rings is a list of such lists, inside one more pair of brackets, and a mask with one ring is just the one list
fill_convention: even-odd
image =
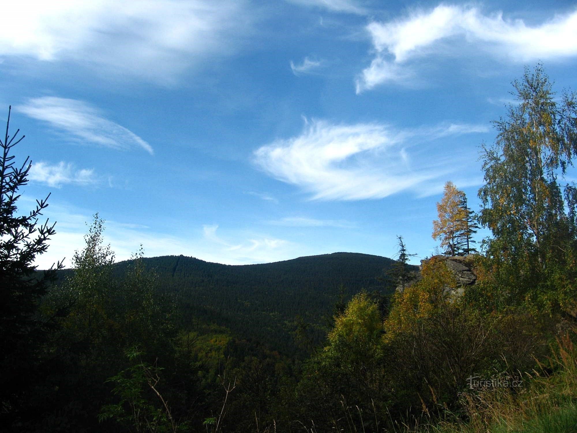
[(567, 92), (557, 99), (541, 65), (512, 84), (519, 103), (494, 122), (497, 138), (482, 149), (481, 222), (505, 241), (508, 256), (534, 254), (543, 268), (564, 249), (559, 235), (575, 231), (576, 187), (558, 180), (577, 152), (576, 100)]

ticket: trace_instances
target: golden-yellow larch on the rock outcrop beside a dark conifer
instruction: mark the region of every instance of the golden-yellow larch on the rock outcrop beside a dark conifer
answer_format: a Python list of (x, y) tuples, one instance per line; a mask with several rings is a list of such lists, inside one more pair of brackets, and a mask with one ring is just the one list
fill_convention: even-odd
[(439, 219), (433, 221), (433, 239), (440, 239), (444, 253), (451, 256), (459, 252), (459, 237), (466, 230), (467, 214), (460, 204), (463, 196), (453, 182), (445, 183), (443, 198), (437, 203)]

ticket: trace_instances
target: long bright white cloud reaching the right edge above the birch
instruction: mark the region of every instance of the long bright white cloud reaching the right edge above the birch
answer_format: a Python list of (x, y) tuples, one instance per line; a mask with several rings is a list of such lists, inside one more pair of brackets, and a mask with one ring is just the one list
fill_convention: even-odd
[(502, 13), (486, 15), (471, 6), (441, 4), (414, 10), (404, 19), (373, 21), (366, 29), (376, 57), (359, 76), (357, 93), (387, 81), (409, 80), (410, 62), (427, 55), (485, 51), (519, 62), (577, 55), (577, 12), (531, 27), (523, 20), (507, 20)]

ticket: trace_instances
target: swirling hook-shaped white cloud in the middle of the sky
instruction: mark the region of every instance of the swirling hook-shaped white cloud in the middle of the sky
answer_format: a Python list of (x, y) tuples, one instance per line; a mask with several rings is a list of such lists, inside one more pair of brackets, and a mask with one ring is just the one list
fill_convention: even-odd
[(312, 121), (304, 132), (287, 140), (276, 140), (254, 152), (258, 166), (271, 176), (312, 193), (313, 199), (357, 200), (385, 197), (413, 182), (396, 178), (388, 182), (379, 170), (364, 170), (350, 160), (395, 143), (396, 137), (384, 125), (332, 125)]

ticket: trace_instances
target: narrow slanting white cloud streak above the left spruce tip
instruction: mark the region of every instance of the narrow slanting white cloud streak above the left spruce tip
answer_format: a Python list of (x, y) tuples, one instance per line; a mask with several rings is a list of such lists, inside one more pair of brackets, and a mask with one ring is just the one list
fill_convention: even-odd
[(43, 96), (29, 99), (16, 110), (28, 117), (47, 122), (80, 143), (113, 149), (140, 147), (153, 155), (150, 144), (132, 131), (102, 117), (95, 107), (75, 99)]

